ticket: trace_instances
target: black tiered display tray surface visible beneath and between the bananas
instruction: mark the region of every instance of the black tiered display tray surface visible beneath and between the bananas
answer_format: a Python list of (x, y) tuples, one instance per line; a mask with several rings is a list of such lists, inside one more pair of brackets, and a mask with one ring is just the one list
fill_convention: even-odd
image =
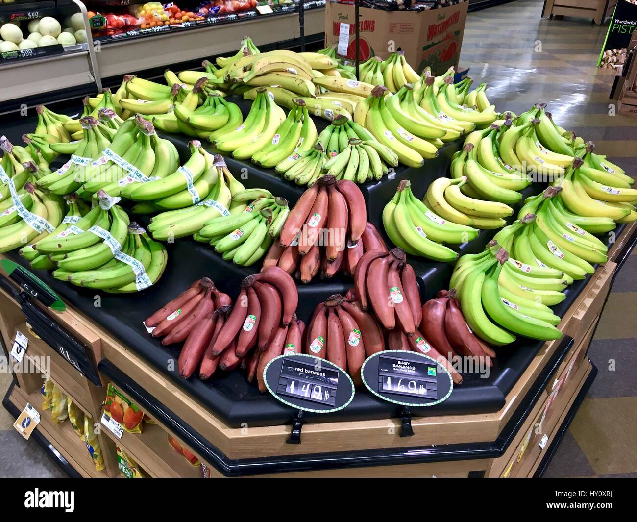
[[(243, 107), (247, 105), (242, 104)], [(72, 113), (72, 112), (69, 112)], [(21, 119), (3, 126), (3, 131), (10, 139), (19, 141), (19, 136), (34, 128), (34, 120), (31, 122)], [(317, 121), (320, 131), (325, 126), (323, 120)], [(185, 136), (168, 136), (180, 149), (182, 159), (187, 157), (185, 147), (187, 138)], [(450, 144), (448, 150), (457, 150), (459, 144)], [(446, 149), (447, 149), (446, 148)], [(418, 183), (420, 190), (417, 196), (422, 197), (426, 184), (434, 178), (446, 175), (448, 163), (442, 163), (443, 157), (450, 157), (443, 149), (440, 157), (426, 162), (425, 167), (419, 170), (404, 169), (397, 174), (403, 178), (408, 177), (414, 183)], [(448, 156), (447, 156), (448, 154)], [(447, 160), (448, 162), (448, 160)], [(229, 168), (234, 173), (238, 173), (240, 168), (250, 168), (250, 173), (245, 180), (241, 180), (246, 187), (264, 187), (274, 194), (287, 196), (290, 204), (293, 204), (294, 189), (300, 194), (302, 189), (296, 185), (287, 184), (284, 180), (275, 177), (272, 173), (259, 171), (254, 166), (244, 162), (227, 159)], [(239, 170), (237, 170), (239, 169)], [(383, 191), (393, 194), (398, 180), (382, 180), (380, 185), (394, 185)], [(287, 192), (283, 190), (287, 187)], [(422, 189), (424, 187), (424, 189)], [(536, 187), (540, 190), (541, 187)], [(379, 195), (381, 194), (379, 190)], [(382, 211), (387, 199), (382, 198), (382, 203), (376, 203), (377, 209)], [(378, 210), (376, 210), (378, 212)], [(369, 219), (379, 219), (378, 216), (370, 215)], [(382, 226), (381, 228), (382, 229)], [(624, 225), (618, 226), (615, 233), (620, 235)], [(485, 231), (476, 240), (462, 245), (461, 253), (478, 252), (482, 250), (484, 244), (494, 234), (494, 231)], [(203, 403), (215, 415), (219, 416), (231, 427), (240, 427), (241, 423), (248, 423), (251, 426), (268, 426), (273, 424), (287, 423), (290, 420), (292, 410), (285, 407), (269, 395), (259, 393), (253, 383), (249, 385), (245, 380), (243, 372), (234, 371), (231, 373), (217, 372), (208, 381), (200, 381), (197, 377), (191, 377), (188, 381), (180, 378), (176, 370), (176, 364), (170, 365), (171, 359), (178, 358), (180, 347), (163, 347), (159, 340), (148, 335), (141, 322), (152, 314), (156, 308), (161, 307), (178, 293), (188, 287), (195, 279), (208, 276), (222, 290), (229, 293), (233, 298), (238, 294), (238, 283), (243, 277), (258, 270), (255, 265), (250, 268), (242, 268), (232, 263), (226, 263), (220, 256), (207, 245), (194, 242), (190, 238), (176, 240), (174, 244), (168, 244), (168, 267), (157, 284), (140, 294), (106, 294), (90, 289), (83, 289), (71, 286), (64, 282), (55, 280), (50, 272), (36, 271), (38, 277), (49, 284), (59, 295), (70, 305), (87, 315), (101, 328), (110, 332), (118, 338), (122, 344), (145, 359), (154, 368), (166, 375), (169, 379), (190, 393), (196, 400)], [(28, 266), (24, 259), (18, 256), (17, 252), (7, 254), (18, 263)], [(413, 263), (420, 277), (420, 284), (423, 287), (424, 298), (429, 298), (438, 290), (445, 287), (450, 275), (450, 266), (444, 263), (431, 263), (427, 261), (409, 259)], [(563, 315), (575, 301), (576, 296), (587, 284), (588, 279), (575, 282), (566, 290), (566, 300), (554, 307), (555, 313)], [(346, 277), (334, 278), (329, 284), (320, 281), (311, 282), (308, 285), (299, 284), (299, 310), (301, 319), (307, 320), (311, 310), (320, 300), (324, 300), (329, 294), (343, 293), (351, 286), (351, 282)], [(95, 306), (96, 295), (101, 296), (101, 305)], [(496, 350), (497, 359), (494, 366), (490, 368), (489, 377), (480, 379), (477, 376), (465, 375), (464, 382), (454, 388), (450, 398), (434, 407), (413, 409), (415, 416), (435, 416), (448, 414), (472, 414), (495, 412), (505, 404), (505, 398), (512, 389), (520, 375), (524, 373), (531, 360), (536, 356), (543, 346), (543, 342), (520, 338), (514, 344)], [(175, 368), (169, 370), (168, 368)], [(366, 389), (360, 388), (352, 403), (345, 410), (334, 414), (306, 414), (308, 423), (322, 421), (355, 421), (365, 419), (383, 419), (397, 415), (397, 408), (389, 403), (381, 402), (380, 399), (369, 394)]]

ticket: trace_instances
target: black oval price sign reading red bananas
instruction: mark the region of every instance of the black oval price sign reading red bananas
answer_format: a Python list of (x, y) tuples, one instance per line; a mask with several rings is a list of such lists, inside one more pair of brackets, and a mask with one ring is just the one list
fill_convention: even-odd
[(280, 355), (263, 370), (263, 380), (276, 400), (306, 412), (336, 412), (354, 398), (351, 377), (313, 355)]

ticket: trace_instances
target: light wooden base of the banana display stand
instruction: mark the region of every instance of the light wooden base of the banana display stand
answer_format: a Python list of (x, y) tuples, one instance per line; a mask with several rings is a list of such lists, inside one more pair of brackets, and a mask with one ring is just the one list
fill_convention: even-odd
[[(50, 356), (52, 380), (94, 419), (99, 419), (105, 386), (111, 381), (157, 422), (145, 424), (143, 433), (124, 433), (121, 439), (101, 430), (106, 469), (96, 472), (69, 423), (54, 424), (48, 412), (41, 412), (36, 440), (41, 437), (41, 444), (48, 444), (67, 468), (70, 465), (84, 477), (119, 476), (116, 442), (152, 477), (198, 475), (199, 469), (169, 446), (169, 436), (188, 447), (211, 477), (531, 477), (545, 468), (594, 378), (596, 369), (587, 350), (613, 278), (636, 235), (637, 224), (631, 224), (617, 238), (609, 249), (609, 261), (598, 266), (562, 317), (559, 328), (564, 338), (543, 345), (501, 410), (415, 417), (412, 437), (399, 436), (401, 421), (396, 418), (308, 423), (302, 444), (285, 443), (290, 431), (285, 424), (231, 428), (78, 310), (48, 310), (52, 319), (92, 350), (101, 372), (102, 386), (97, 387), (54, 347), (32, 335), (6, 284), (0, 289), (0, 331), (5, 346), (10, 347), (20, 331), (29, 338), (27, 355)], [(39, 372), (15, 373), (5, 407), (14, 416), (27, 402), (40, 410), (40, 386)]]

